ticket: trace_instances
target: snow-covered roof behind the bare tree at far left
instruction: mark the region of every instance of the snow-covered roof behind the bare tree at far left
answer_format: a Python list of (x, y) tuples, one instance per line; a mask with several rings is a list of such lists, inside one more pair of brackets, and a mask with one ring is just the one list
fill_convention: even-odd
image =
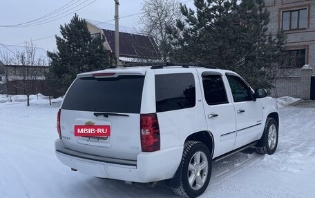
[[(25, 46), (15, 46), (15, 45), (2, 45), (0, 46), (0, 60), (3, 64), (6, 64), (5, 59), (12, 59), (15, 57), (16, 52), (23, 52), (25, 50)], [(40, 57), (44, 57), (46, 59), (46, 66), (48, 66), (48, 57), (47, 52), (44, 48), (36, 48), (35, 59), (39, 59)]]

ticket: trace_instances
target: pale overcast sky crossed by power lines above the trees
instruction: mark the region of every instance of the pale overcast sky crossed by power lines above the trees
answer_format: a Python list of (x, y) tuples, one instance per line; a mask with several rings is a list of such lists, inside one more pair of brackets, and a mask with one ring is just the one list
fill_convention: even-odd
[[(193, 0), (180, 1), (193, 6)], [(120, 26), (140, 26), (138, 21), (141, 14), (137, 13), (141, 12), (142, 2), (120, 0)], [(57, 9), (59, 12), (55, 12)], [(84, 19), (114, 23), (115, 4), (113, 0), (1, 0), (0, 43), (23, 46), (24, 42), (32, 40), (38, 47), (55, 50), (54, 35), (59, 34), (60, 25), (70, 22), (74, 13)], [(32, 22), (26, 23), (29, 21)], [(20, 25), (15, 26), (17, 24)]]

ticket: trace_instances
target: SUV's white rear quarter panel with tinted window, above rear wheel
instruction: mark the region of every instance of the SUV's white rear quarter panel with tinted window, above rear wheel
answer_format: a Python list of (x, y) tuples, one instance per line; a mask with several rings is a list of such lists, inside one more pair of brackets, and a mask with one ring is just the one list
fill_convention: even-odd
[(167, 68), (154, 72), (161, 149), (182, 146), (189, 135), (207, 127), (198, 73), (195, 68)]

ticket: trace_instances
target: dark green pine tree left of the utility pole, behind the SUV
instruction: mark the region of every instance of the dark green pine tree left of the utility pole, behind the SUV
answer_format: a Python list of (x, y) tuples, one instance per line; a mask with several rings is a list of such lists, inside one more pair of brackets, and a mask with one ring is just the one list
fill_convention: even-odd
[(77, 74), (100, 70), (113, 65), (113, 58), (104, 49), (104, 40), (92, 39), (84, 19), (77, 14), (70, 23), (60, 26), (61, 37), (56, 36), (57, 52), (48, 52), (50, 70), (46, 79), (54, 97), (64, 95)]

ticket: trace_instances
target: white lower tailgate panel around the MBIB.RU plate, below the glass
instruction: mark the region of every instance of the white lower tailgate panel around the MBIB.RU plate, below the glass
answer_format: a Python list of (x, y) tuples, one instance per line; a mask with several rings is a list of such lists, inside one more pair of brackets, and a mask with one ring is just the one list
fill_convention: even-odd
[[(135, 160), (141, 152), (140, 115), (126, 115), (128, 117), (95, 117), (93, 112), (61, 110), (61, 136), (64, 145), (93, 155)], [(108, 137), (75, 136), (75, 126), (91, 124), (109, 126), (111, 134)]]

